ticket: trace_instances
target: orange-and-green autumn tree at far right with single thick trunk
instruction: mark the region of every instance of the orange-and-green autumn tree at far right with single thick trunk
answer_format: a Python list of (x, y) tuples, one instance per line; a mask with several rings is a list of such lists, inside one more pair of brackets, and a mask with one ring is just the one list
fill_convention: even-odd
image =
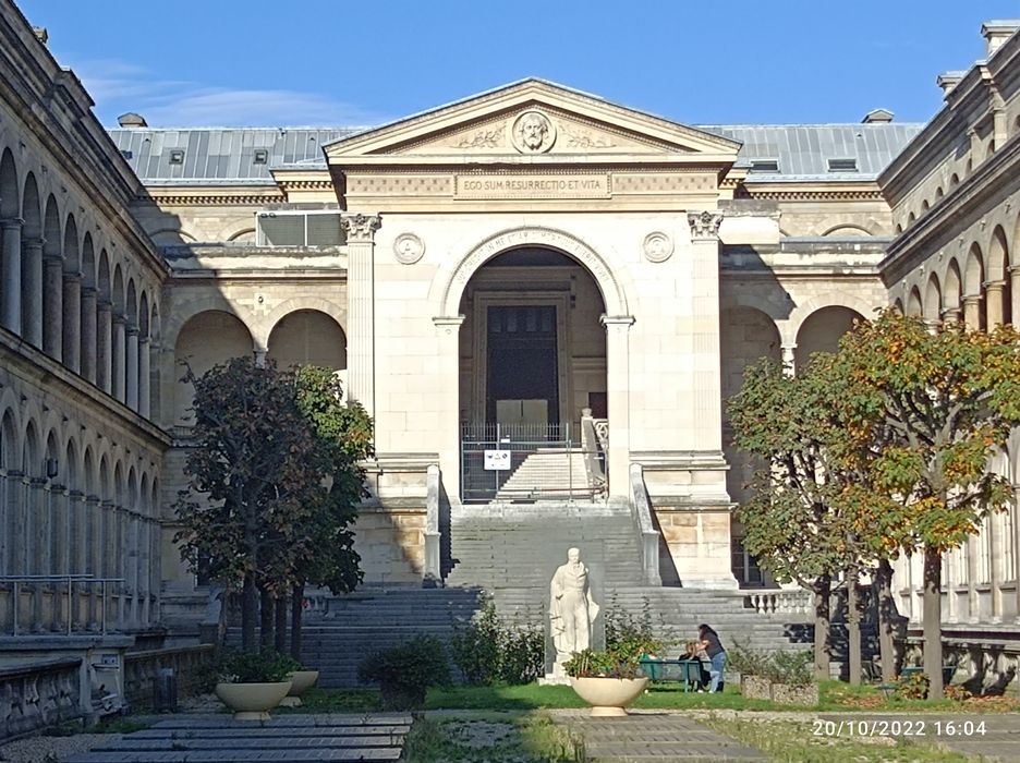
[(924, 671), (942, 697), (942, 557), (1010, 499), (988, 469), (1020, 424), (1020, 335), (958, 325), (930, 330), (896, 311), (846, 335), (840, 364), (848, 432), (873, 455), (874, 486), (892, 512), (889, 533), (923, 550)]

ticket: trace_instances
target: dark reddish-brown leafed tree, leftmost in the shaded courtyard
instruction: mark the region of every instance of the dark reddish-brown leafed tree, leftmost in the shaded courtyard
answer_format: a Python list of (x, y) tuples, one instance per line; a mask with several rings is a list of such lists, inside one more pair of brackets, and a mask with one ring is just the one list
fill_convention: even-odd
[[(325, 472), (298, 408), (293, 376), (235, 358), (202, 377), (191, 367), (195, 424), (177, 502), (182, 558), (228, 588), (242, 588), (242, 644), (255, 644), (258, 589), (286, 581), (298, 560), (295, 522)], [(270, 564), (271, 562), (271, 564)]]

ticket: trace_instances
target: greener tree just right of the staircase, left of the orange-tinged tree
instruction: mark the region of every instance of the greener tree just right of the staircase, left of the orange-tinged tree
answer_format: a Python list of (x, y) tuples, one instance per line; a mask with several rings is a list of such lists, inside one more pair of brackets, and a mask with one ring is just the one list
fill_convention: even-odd
[(729, 403), (737, 447), (758, 457), (750, 501), (738, 509), (744, 546), (778, 581), (815, 598), (815, 675), (828, 678), (830, 594), (846, 573), (851, 681), (860, 680), (855, 583), (867, 560), (859, 491), (841, 459), (847, 433), (837, 415), (830, 355), (812, 356), (796, 377), (768, 360), (749, 366)]

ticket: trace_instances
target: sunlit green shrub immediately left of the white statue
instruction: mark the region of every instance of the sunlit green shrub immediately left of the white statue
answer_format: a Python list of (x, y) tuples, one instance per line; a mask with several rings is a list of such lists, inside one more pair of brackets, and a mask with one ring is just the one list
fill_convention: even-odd
[(450, 640), (453, 664), (467, 683), (529, 683), (545, 663), (545, 633), (534, 626), (506, 625), (491, 596), (479, 597), (481, 607), (466, 628), (456, 629)]

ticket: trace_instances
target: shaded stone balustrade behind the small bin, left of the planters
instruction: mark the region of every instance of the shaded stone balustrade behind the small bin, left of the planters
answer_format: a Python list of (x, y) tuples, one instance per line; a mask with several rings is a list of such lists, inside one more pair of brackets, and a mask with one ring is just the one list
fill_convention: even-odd
[(124, 693), (131, 710), (154, 710), (156, 679), (162, 668), (173, 669), (179, 699), (208, 690), (215, 652), (212, 644), (127, 652), (124, 655)]

